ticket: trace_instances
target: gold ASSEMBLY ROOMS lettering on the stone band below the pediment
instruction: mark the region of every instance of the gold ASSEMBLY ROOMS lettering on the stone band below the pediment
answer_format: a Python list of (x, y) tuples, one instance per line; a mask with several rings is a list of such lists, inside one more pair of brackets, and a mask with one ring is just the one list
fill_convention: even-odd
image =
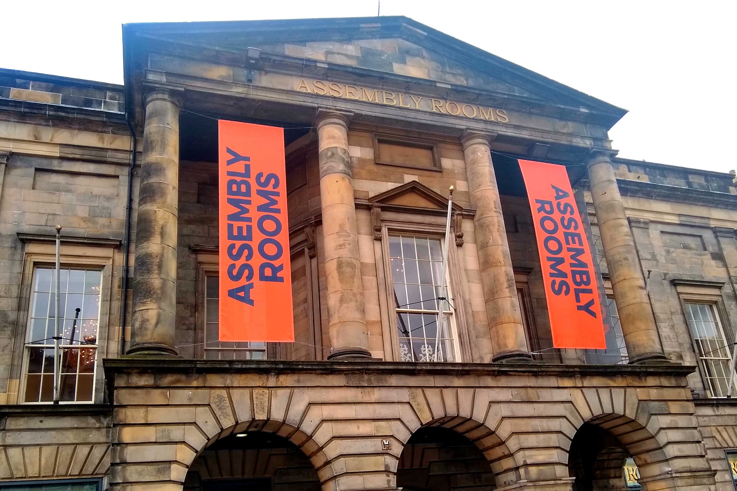
[(484, 107), (433, 97), (425, 98), (411, 93), (386, 91), (379, 88), (362, 87), (326, 80), (295, 79), (295, 90), (315, 93), (318, 96), (338, 97), (354, 101), (372, 102), (374, 104), (402, 107), (403, 109), (424, 110), (430, 113), (448, 114), (461, 118), (483, 119), (499, 123), (509, 123), (509, 116), (503, 109)]

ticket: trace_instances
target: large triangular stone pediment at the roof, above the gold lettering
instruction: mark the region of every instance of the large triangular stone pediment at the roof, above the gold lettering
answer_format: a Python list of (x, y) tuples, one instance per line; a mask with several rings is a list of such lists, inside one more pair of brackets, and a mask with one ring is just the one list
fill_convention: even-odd
[(256, 47), (271, 63), (298, 60), (304, 66), (324, 67), (326, 78), (343, 71), (346, 79), (394, 80), (401, 85), (409, 77), (430, 82), (428, 87), (479, 92), (473, 96), (478, 102), (484, 93), (511, 95), (533, 104), (600, 113), (609, 124), (626, 113), (403, 16), (126, 24), (124, 46), (131, 36), (208, 46), (223, 60), (235, 60), (238, 53), (243, 56), (248, 47)]

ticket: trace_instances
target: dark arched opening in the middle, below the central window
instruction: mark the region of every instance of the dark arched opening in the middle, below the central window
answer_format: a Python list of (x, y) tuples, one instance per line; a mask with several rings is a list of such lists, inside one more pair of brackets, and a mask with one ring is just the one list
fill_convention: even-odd
[(419, 428), (405, 444), (397, 487), (411, 491), (495, 489), (489, 461), (469, 439), (436, 426)]

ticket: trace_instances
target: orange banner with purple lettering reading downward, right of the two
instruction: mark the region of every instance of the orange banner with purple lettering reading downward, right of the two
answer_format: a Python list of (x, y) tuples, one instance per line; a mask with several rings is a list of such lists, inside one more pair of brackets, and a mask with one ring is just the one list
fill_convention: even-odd
[(548, 298), (553, 347), (604, 350), (598, 283), (565, 166), (520, 160)]

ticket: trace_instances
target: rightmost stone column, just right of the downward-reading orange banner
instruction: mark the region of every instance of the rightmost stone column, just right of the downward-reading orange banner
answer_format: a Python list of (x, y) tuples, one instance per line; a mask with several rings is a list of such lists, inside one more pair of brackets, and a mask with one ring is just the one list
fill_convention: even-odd
[(594, 152), (588, 172), (629, 363), (666, 361), (609, 153)]

